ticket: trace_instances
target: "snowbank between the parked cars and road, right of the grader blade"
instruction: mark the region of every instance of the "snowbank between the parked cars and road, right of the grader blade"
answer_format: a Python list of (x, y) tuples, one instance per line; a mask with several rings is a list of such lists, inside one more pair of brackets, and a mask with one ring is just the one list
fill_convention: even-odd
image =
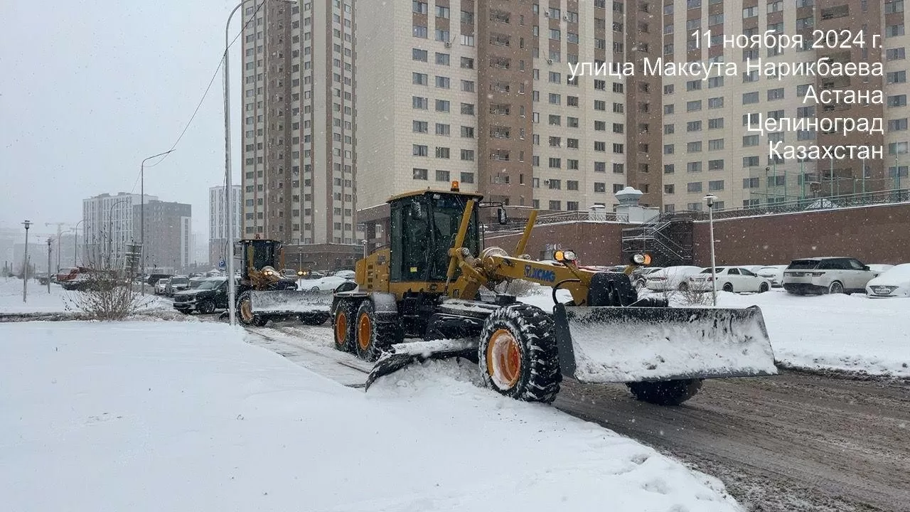
[[(561, 290), (561, 301), (571, 300)], [(910, 299), (853, 295), (797, 296), (774, 289), (766, 293), (717, 292), (718, 306), (757, 305), (774, 351), (789, 366), (910, 377)], [(550, 288), (520, 297), (552, 311)], [(674, 294), (673, 305), (682, 304)]]

